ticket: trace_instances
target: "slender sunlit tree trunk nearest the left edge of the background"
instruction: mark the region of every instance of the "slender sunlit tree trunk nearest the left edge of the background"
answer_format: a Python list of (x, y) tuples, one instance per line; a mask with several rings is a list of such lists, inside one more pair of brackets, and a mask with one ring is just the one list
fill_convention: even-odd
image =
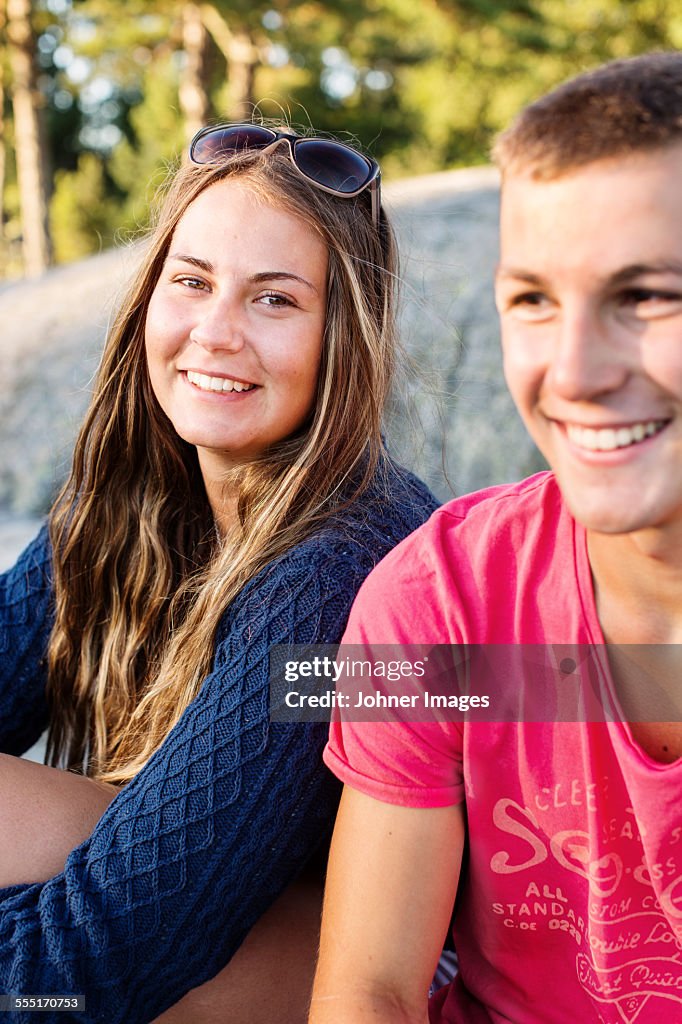
[(31, 0), (7, 0), (16, 176), (22, 208), (24, 272), (42, 273), (50, 262), (47, 189), (39, 124), (41, 98), (34, 67)]

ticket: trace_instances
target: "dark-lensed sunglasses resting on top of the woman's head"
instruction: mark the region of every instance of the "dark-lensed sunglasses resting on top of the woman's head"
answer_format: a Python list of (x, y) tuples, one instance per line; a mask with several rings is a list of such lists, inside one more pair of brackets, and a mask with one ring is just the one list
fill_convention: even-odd
[(317, 188), (353, 199), (366, 188), (372, 195), (372, 219), (379, 227), (381, 208), (381, 171), (376, 160), (364, 156), (343, 142), (327, 138), (302, 138), (289, 132), (273, 131), (262, 125), (231, 124), (202, 128), (189, 143), (189, 159), (195, 164), (213, 164), (249, 150), (267, 153), (286, 142), (296, 170)]

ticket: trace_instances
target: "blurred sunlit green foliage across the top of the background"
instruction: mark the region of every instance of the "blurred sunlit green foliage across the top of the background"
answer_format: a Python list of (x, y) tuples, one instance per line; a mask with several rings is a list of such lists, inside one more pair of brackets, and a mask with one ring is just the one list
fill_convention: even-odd
[[(178, 103), (184, 6), (183, 0), (71, 0), (55, 13), (54, 0), (37, 0), (58, 259), (85, 255), (118, 229), (143, 225), (156, 185), (184, 147)], [(359, 139), (387, 177), (483, 162), (495, 134), (521, 106), (563, 79), (612, 57), (682, 48), (679, 0), (213, 0), (211, 6), (227, 36), (245, 33), (257, 49), (262, 114)], [(216, 43), (206, 81), (212, 116), (228, 117), (230, 69)], [(10, 161), (4, 200), (10, 230), (12, 174)]]

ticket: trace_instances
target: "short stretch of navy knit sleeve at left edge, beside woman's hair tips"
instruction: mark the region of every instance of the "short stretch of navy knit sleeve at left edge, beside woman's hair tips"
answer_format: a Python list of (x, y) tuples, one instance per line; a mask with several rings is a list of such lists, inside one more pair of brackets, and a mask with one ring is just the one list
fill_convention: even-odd
[(44, 527), (0, 575), (0, 751), (24, 754), (47, 726), (45, 653), (52, 625), (51, 551)]

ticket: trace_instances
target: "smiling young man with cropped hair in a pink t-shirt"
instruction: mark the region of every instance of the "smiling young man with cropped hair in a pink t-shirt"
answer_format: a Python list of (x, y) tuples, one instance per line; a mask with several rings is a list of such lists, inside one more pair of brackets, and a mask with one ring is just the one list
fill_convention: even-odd
[(345, 642), (586, 645), (615, 715), (334, 725), (314, 1024), (682, 1021), (682, 727), (647, 712), (682, 687), (682, 53), (565, 84), (496, 157), (505, 373), (552, 472), (436, 512)]

